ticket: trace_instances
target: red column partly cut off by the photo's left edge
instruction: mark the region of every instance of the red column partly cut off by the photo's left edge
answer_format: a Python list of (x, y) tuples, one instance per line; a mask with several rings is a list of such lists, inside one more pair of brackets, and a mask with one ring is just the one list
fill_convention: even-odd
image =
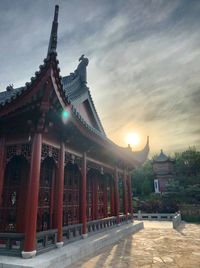
[(4, 169), (5, 169), (5, 152), (6, 152), (6, 140), (5, 140), (5, 137), (1, 137), (0, 138), (0, 206), (2, 205)]

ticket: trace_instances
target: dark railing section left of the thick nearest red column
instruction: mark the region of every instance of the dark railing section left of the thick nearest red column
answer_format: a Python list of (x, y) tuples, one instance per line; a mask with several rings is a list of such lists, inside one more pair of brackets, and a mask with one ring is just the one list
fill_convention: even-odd
[(24, 234), (0, 233), (0, 255), (21, 256)]

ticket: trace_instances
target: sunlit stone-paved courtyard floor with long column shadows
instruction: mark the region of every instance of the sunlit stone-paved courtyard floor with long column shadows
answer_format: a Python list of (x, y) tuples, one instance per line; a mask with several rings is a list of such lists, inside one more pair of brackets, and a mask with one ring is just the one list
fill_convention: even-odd
[(144, 230), (68, 268), (200, 268), (200, 225), (144, 222)]

